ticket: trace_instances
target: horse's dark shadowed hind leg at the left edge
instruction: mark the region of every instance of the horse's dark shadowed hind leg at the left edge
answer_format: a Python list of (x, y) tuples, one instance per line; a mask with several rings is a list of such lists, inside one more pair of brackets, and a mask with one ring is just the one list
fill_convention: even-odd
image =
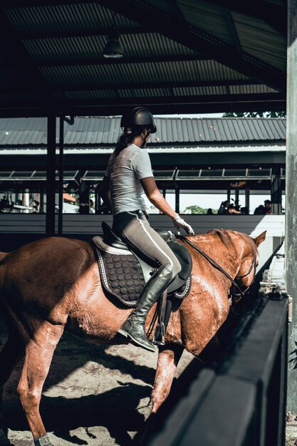
[(4, 431), (1, 429), (1, 416), (2, 416), (2, 393), (4, 384), (11, 375), (11, 372), (16, 367), (16, 364), (20, 361), (24, 355), (24, 343), (19, 336), (9, 335), (8, 340), (4, 348), (0, 353), (0, 445), (9, 445), (10, 442), (7, 439)]

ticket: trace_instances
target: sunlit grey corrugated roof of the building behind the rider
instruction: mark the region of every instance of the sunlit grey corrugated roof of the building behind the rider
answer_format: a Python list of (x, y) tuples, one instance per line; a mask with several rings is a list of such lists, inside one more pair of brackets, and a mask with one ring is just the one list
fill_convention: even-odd
[[(157, 117), (156, 125), (150, 146), (286, 140), (283, 118)], [(0, 119), (0, 146), (46, 145), (46, 133), (46, 118)], [(73, 125), (65, 125), (66, 145), (113, 145), (119, 135), (118, 117), (75, 118)]]

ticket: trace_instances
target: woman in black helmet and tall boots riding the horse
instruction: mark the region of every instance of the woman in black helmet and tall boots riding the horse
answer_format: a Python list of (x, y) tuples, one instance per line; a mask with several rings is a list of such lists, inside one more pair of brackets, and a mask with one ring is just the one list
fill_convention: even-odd
[(145, 107), (125, 113), (120, 136), (103, 177), (100, 195), (113, 213), (113, 231), (155, 272), (140, 293), (132, 314), (118, 331), (137, 346), (155, 351), (145, 335), (145, 318), (150, 308), (179, 273), (181, 266), (167, 243), (148, 222), (145, 195), (164, 214), (172, 218), (174, 227), (194, 234), (192, 227), (170, 207), (162, 196), (152, 174), (150, 157), (143, 147), (156, 133), (154, 118)]

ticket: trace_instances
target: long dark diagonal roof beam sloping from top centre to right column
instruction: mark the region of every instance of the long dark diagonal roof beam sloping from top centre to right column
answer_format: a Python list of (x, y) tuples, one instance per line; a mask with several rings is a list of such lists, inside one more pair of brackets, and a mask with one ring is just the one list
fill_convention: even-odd
[(211, 55), (219, 63), (255, 78), (261, 83), (277, 90), (286, 90), (286, 73), (269, 66), (248, 53), (242, 53), (242, 57), (239, 57), (234, 46), (189, 23), (187, 25), (181, 24), (174, 15), (170, 16), (167, 12), (152, 4), (147, 4), (144, 0), (98, 0), (98, 3), (137, 21), (139, 24), (150, 23), (150, 27), (158, 33), (172, 38), (174, 41), (194, 49), (194, 51), (202, 51), (208, 57)]

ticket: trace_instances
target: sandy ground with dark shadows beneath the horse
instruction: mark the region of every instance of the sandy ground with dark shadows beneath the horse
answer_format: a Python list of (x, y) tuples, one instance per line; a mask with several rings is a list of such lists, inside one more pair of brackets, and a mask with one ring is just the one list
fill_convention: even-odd
[[(0, 317), (0, 349), (6, 326)], [(178, 373), (192, 361), (185, 352)], [(41, 417), (54, 446), (132, 445), (150, 413), (157, 353), (127, 346), (96, 346), (63, 335), (41, 398)], [(4, 427), (11, 443), (33, 445), (16, 386), (19, 363), (4, 388)], [(1, 367), (1, 364), (0, 364)]]

